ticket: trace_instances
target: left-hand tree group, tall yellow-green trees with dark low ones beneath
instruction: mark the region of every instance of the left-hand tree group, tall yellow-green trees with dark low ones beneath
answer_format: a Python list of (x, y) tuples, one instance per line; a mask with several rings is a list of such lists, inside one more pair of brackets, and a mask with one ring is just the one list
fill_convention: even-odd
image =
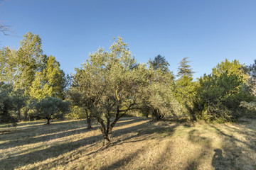
[[(0, 50), (0, 123), (47, 118), (68, 111), (69, 77), (53, 56), (43, 54), (41, 38), (27, 33), (18, 50)], [(65, 109), (64, 109), (65, 108)]]

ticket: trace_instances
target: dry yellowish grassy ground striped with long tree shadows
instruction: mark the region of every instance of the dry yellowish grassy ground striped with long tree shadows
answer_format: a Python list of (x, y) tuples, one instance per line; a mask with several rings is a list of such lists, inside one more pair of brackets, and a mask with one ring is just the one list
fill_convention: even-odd
[(84, 120), (0, 126), (0, 169), (256, 169), (256, 120), (206, 124), (122, 118), (102, 149)]

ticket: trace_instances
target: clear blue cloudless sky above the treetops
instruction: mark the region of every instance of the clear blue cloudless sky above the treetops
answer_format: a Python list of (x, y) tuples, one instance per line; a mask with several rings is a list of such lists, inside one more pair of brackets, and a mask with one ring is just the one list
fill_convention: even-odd
[(67, 73), (118, 35), (138, 62), (162, 55), (175, 74), (188, 57), (195, 78), (225, 58), (256, 59), (255, 0), (8, 0), (0, 16), (17, 35), (1, 34), (1, 46), (17, 49), (31, 31)]

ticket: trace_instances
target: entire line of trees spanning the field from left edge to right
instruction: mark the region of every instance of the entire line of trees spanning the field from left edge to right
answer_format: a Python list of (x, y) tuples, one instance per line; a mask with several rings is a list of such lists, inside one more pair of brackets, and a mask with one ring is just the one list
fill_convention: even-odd
[[(245, 67), (238, 60), (225, 60), (209, 75), (193, 80), (188, 58), (178, 74), (158, 55), (146, 64), (137, 63), (122, 38), (109, 50), (99, 48), (89, 59), (65, 76), (53, 56), (43, 55), (41, 38), (28, 33), (18, 50), (0, 51), (0, 121), (26, 118), (95, 119), (108, 144), (112, 129), (127, 113), (191, 120), (235, 120), (255, 111), (256, 64)], [(70, 106), (70, 102), (71, 106)], [(71, 108), (71, 109), (70, 109)]]

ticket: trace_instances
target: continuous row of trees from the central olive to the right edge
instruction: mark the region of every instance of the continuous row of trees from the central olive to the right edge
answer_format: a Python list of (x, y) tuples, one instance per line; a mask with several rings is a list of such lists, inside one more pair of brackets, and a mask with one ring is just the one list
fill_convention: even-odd
[(179, 65), (175, 77), (161, 55), (139, 64), (118, 38), (109, 51), (100, 48), (75, 69), (69, 97), (84, 108), (88, 128), (90, 119), (97, 119), (106, 143), (119, 118), (131, 111), (156, 120), (171, 116), (225, 122), (245, 115), (246, 104), (255, 101), (250, 83), (255, 82), (250, 77), (255, 65), (225, 60), (197, 81), (186, 57)]

